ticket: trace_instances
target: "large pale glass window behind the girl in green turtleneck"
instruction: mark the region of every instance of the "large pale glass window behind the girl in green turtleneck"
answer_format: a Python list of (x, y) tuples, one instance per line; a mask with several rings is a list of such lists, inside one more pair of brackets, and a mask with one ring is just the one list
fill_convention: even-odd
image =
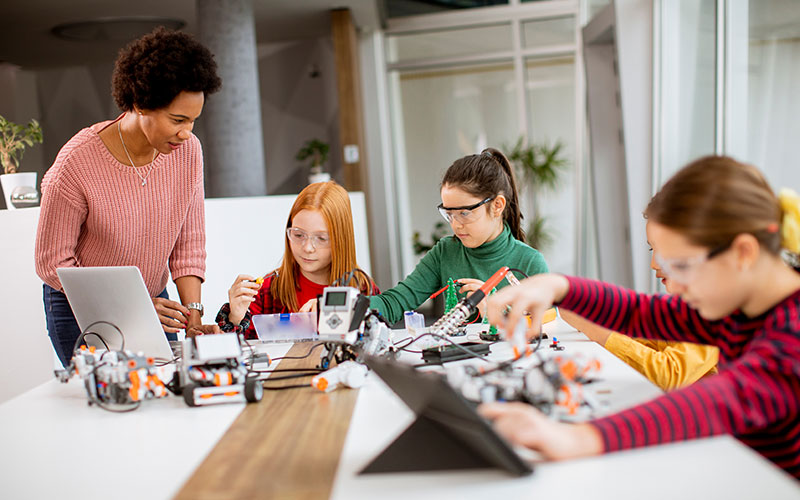
[[(545, 4), (390, 20), (386, 59), (400, 226), (409, 228), (404, 245), (414, 232), (430, 242), (441, 220), (439, 183), (453, 161), (488, 146), (508, 152), (520, 137), (559, 141), (569, 165), (558, 190), (541, 196), (555, 239), (542, 250), (552, 270), (577, 272), (576, 172), (583, 159), (576, 145), (584, 126), (576, 113), (578, 4)], [(527, 230), (533, 200), (522, 197)]]

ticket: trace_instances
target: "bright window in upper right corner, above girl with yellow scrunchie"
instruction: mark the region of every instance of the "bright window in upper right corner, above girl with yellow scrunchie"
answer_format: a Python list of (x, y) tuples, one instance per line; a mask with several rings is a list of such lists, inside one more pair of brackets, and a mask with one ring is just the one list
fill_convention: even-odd
[(800, 190), (800, 2), (728, 3), (727, 154)]

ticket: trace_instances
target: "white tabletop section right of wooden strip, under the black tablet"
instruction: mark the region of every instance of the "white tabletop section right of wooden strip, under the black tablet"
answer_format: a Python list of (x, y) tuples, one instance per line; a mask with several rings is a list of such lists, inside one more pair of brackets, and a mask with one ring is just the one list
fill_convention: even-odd
[[(602, 413), (662, 394), (641, 374), (566, 323), (545, 326), (563, 342), (561, 354), (581, 353), (603, 363), (594, 390), (608, 393)], [(545, 355), (550, 348), (542, 341)], [(508, 359), (507, 345), (493, 357)], [(473, 361), (474, 363), (474, 361)], [(339, 464), (333, 499), (381, 498), (800, 498), (800, 483), (730, 436), (611, 453), (565, 462), (537, 463), (516, 478), (499, 470), (358, 475), (414, 420), (377, 376), (361, 388)]]

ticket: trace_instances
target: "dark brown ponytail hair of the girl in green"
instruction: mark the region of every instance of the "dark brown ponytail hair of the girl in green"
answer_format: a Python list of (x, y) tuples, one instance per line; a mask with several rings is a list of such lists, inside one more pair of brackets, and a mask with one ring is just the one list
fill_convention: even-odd
[(517, 181), (511, 163), (502, 152), (486, 148), (481, 154), (459, 158), (445, 172), (440, 187), (444, 186), (458, 187), (481, 199), (499, 194), (505, 196), (503, 220), (508, 224), (514, 238), (525, 241)]

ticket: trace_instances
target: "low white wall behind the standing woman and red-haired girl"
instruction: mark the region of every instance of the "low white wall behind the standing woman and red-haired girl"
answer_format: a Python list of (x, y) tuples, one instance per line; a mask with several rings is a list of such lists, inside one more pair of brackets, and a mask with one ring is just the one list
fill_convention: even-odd
[[(281, 235), (294, 199), (263, 196), (206, 200), (204, 323), (214, 321), (238, 274), (263, 275), (278, 265), (284, 250)], [(350, 202), (356, 258), (371, 273), (364, 194), (350, 193)], [(45, 325), (42, 281), (34, 268), (38, 221), (38, 208), (0, 210), (0, 403), (53, 376), (55, 353)], [(174, 283), (170, 282), (168, 290), (172, 298), (178, 297)]]

